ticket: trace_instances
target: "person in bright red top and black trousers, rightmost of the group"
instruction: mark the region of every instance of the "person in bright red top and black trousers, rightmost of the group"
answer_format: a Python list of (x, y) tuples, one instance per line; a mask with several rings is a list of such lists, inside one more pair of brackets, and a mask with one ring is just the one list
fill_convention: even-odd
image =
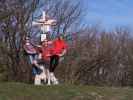
[(51, 55), (50, 55), (50, 77), (52, 77), (54, 84), (58, 84), (57, 79), (54, 75), (54, 70), (59, 64), (60, 57), (62, 57), (67, 50), (67, 43), (63, 40), (62, 36), (58, 36), (52, 43), (53, 47), (51, 48)]

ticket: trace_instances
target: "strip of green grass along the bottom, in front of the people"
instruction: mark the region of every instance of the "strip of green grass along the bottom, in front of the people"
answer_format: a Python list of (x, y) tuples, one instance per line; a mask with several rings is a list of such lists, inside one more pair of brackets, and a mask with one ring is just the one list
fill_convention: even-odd
[(133, 100), (133, 88), (0, 83), (0, 100)]

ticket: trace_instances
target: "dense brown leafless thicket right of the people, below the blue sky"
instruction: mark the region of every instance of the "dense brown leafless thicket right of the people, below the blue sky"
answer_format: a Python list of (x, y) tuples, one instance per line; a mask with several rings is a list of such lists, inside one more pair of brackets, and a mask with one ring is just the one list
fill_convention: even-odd
[[(96, 85), (132, 85), (133, 39), (128, 30), (87, 30), (71, 48), (59, 76), (65, 82)], [(83, 33), (81, 33), (83, 34)], [(62, 73), (63, 72), (63, 73)]]

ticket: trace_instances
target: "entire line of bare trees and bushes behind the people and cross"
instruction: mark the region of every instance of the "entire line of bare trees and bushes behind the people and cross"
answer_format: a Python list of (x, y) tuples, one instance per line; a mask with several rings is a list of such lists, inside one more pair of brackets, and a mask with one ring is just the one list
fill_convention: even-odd
[[(42, 5), (57, 20), (54, 32), (76, 29), (64, 61), (56, 69), (63, 83), (127, 86), (133, 84), (132, 32), (119, 27), (110, 32), (84, 27), (79, 2), (71, 0), (0, 1), (0, 80), (31, 82), (31, 65), (24, 54), (24, 38), (31, 33), (31, 18)], [(29, 26), (28, 26), (29, 25)], [(82, 27), (81, 27), (82, 26)], [(34, 34), (35, 35), (35, 34)]]

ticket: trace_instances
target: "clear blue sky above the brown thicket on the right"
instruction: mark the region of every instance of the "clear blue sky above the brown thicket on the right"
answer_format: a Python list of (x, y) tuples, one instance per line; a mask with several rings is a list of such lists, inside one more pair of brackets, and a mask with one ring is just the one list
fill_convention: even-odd
[(133, 0), (83, 0), (88, 24), (101, 24), (106, 29), (133, 27)]

